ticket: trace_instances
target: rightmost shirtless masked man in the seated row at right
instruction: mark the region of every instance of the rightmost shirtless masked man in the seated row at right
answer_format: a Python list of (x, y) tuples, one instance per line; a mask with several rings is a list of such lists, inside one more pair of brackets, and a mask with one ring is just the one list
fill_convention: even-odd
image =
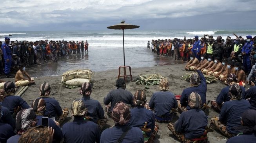
[(240, 86), (245, 86), (246, 75), (245, 72), (241, 69), (241, 66), (242, 64), (240, 62), (235, 63), (235, 74), (237, 77), (237, 83), (239, 83)]

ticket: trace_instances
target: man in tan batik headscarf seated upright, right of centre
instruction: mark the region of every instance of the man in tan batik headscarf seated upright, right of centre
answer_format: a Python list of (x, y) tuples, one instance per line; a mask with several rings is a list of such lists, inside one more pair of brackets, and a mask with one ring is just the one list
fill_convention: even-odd
[(154, 116), (157, 122), (171, 122), (173, 118), (173, 109), (178, 107), (173, 93), (169, 92), (169, 82), (167, 79), (161, 79), (159, 82), (160, 91), (153, 93), (149, 101), (149, 108), (154, 110)]

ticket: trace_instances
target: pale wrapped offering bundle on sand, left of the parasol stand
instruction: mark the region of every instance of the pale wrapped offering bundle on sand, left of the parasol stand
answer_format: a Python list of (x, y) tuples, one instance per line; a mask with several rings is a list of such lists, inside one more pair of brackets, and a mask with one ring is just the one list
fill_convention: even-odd
[(93, 71), (89, 69), (71, 70), (62, 74), (61, 83), (67, 88), (75, 88), (74, 86), (81, 86), (84, 82), (91, 82)]

